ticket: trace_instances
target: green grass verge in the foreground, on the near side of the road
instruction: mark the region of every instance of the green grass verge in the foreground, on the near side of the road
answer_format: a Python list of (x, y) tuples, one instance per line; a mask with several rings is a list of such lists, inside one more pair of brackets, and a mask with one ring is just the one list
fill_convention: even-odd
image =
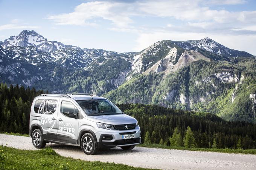
[[(58, 153), (51, 148), (20, 150), (12, 147), (0, 146), (0, 150), (1, 170), (145, 170), (145, 168), (135, 168), (124, 164), (104, 163), (100, 161), (91, 162), (70, 157), (66, 158), (58, 155)], [(1, 158), (3, 158), (3, 160)]]

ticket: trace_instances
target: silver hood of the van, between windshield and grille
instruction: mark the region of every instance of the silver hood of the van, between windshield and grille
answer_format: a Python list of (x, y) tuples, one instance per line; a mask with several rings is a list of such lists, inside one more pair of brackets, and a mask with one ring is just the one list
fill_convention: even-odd
[(91, 120), (93, 122), (101, 122), (111, 125), (122, 125), (136, 123), (137, 120), (127, 114), (110, 114), (102, 116), (86, 116), (85, 119)]

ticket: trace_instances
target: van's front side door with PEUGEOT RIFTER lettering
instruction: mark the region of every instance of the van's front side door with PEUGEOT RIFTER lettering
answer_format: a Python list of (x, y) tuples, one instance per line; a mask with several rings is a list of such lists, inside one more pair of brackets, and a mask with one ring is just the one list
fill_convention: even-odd
[(58, 110), (57, 138), (61, 142), (77, 144), (79, 119), (67, 117), (68, 112), (77, 114), (79, 110), (72, 101), (63, 99), (60, 101), (60, 109)]

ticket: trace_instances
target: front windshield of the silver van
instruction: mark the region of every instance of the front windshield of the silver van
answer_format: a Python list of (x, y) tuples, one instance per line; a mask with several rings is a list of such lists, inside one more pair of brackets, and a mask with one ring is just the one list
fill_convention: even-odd
[(107, 99), (90, 99), (76, 101), (87, 116), (123, 114), (122, 111)]

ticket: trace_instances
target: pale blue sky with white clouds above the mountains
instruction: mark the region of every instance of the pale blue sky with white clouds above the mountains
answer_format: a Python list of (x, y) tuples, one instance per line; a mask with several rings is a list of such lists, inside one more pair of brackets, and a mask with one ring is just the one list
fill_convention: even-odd
[(256, 0), (0, 0), (0, 41), (35, 30), (48, 41), (117, 52), (209, 37), (256, 55)]

